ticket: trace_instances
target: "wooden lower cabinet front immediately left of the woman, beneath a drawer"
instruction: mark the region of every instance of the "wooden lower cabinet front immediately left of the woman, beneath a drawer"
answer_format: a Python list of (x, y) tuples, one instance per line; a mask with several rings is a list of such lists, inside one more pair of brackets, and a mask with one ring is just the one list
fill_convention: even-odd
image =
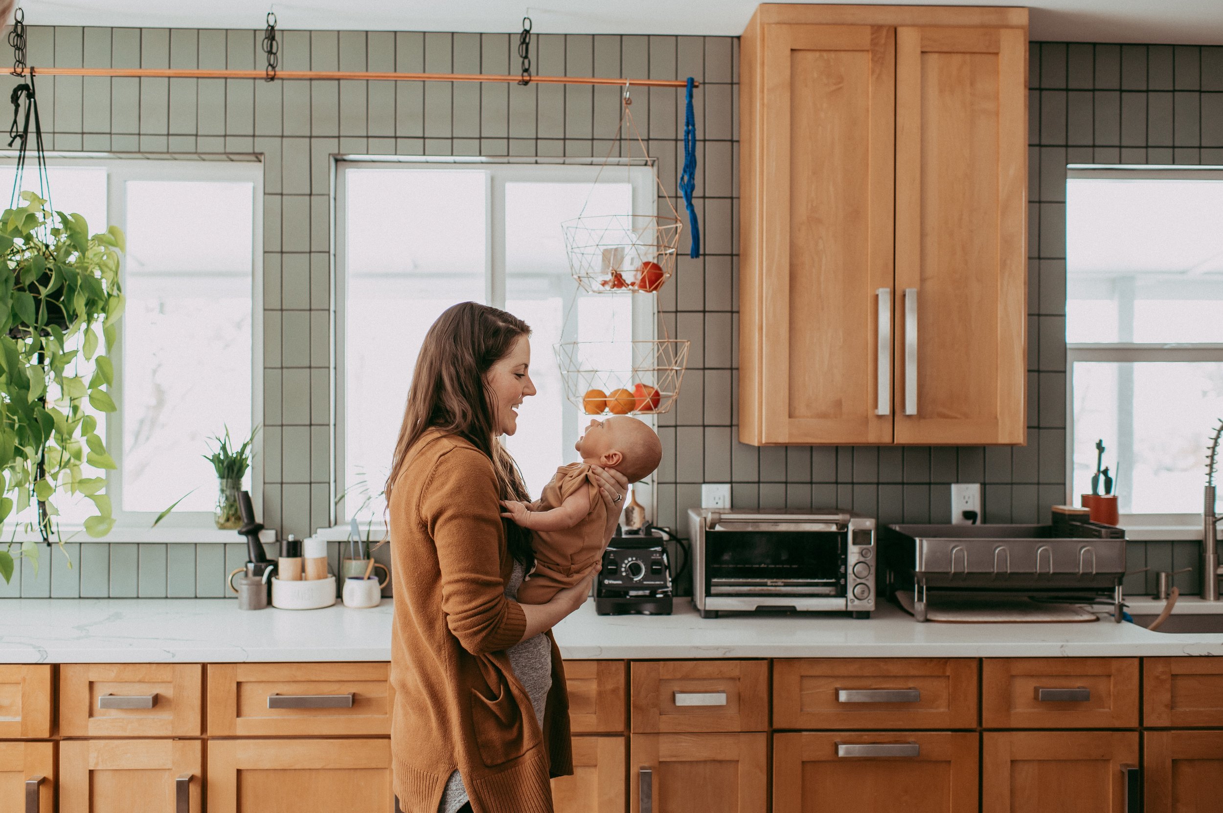
[(208, 813), (389, 813), (394, 804), (390, 740), (208, 743)]

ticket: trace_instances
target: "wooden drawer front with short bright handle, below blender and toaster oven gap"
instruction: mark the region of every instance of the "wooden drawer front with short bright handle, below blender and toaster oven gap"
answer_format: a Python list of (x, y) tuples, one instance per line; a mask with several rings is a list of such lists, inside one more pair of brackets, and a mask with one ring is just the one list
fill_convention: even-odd
[(764, 731), (768, 661), (632, 664), (634, 731)]

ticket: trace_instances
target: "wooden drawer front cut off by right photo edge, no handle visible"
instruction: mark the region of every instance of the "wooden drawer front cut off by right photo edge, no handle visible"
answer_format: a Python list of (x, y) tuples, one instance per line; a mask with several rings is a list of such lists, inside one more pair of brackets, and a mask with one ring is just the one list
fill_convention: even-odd
[(1223, 658), (1146, 658), (1144, 725), (1223, 726)]

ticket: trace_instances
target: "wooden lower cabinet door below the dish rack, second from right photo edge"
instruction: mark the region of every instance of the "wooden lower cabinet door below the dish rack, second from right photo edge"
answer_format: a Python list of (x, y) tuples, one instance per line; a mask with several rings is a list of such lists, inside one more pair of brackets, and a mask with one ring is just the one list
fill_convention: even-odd
[(982, 813), (1124, 813), (1137, 731), (986, 731)]

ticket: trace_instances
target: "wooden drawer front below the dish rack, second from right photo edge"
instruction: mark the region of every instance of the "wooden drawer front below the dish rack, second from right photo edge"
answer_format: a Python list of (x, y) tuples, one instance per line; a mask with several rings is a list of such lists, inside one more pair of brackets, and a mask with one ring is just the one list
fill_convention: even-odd
[[(1139, 725), (1137, 658), (991, 658), (981, 686), (986, 729)], [(1087, 699), (1065, 699), (1068, 690)]]

